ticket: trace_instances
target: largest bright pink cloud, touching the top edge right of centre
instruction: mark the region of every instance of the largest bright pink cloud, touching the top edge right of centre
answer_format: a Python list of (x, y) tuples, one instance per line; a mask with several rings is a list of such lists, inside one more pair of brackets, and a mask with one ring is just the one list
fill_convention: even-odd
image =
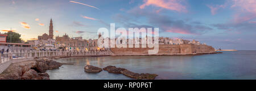
[(163, 9), (187, 13), (187, 8), (181, 5), (182, 0), (144, 0), (144, 2), (145, 3), (140, 6), (140, 9), (152, 5)]

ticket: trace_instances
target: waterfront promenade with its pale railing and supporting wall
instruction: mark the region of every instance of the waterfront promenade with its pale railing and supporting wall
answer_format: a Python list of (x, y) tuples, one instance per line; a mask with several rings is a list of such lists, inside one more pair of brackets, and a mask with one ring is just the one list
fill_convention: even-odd
[(33, 60), (34, 57), (78, 57), (113, 55), (110, 50), (104, 51), (14, 51), (0, 56), (0, 73), (13, 63)]

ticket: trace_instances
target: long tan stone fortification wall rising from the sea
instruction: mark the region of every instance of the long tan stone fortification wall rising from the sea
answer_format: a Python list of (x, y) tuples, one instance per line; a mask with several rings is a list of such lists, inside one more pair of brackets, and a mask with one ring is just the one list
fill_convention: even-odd
[[(148, 55), (148, 49), (153, 48), (111, 48), (115, 55)], [(207, 45), (195, 44), (160, 44), (155, 55), (195, 55), (199, 53), (214, 53), (214, 48)]]

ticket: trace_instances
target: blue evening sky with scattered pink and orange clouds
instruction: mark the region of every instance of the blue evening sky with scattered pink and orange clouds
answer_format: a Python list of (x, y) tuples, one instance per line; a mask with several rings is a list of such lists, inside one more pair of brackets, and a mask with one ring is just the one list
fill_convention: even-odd
[(159, 36), (198, 40), (214, 48), (256, 50), (255, 0), (1, 0), (0, 32), (23, 40), (48, 34), (96, 39), (97, 30), (155, 27)]

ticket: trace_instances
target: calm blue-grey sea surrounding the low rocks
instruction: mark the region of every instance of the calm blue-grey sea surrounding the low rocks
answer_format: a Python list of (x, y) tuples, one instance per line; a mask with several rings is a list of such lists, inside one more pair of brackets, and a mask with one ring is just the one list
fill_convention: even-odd
[(49, 70), (50, 79), (132, 79), (121, 74), (86, 73), (86, 64), (108, 65), (136, 73), (156, 73), (156, 79), (256, 79), (256, 51), (225, 51), (220, 54), (186, 56), (101, 56), (57, 60), (63, 65)]

